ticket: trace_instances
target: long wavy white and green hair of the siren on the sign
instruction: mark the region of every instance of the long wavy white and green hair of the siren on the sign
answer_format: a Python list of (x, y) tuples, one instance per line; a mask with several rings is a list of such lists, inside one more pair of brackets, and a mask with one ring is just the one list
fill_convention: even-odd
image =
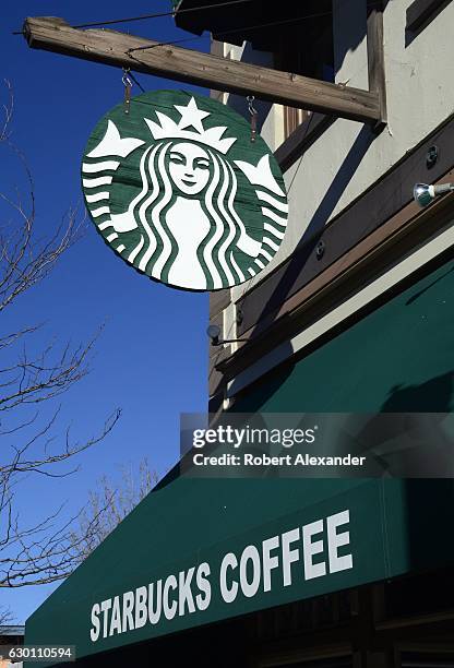
[[(141, 238), (129, 261), (162, 281), (168, 279), (178, 254), (177, 242), (166, 223), (167, 212), (174, 203), (166, 158), (179, 141), (160, 142), (144, 152), (140, 164), (142, 190), (131, 202)], [(206, 146), (204, 150), (211, 158), (211, 179), (201, 193), (201, 205), (211, 225), (199, 246), (198, 258), (206, 276), (206, 289), (216, 289), (246, 279), (234, 258), (238, 238), (246, 229), (234, 206), (237, 177), (231, 165), (217, 152)]]

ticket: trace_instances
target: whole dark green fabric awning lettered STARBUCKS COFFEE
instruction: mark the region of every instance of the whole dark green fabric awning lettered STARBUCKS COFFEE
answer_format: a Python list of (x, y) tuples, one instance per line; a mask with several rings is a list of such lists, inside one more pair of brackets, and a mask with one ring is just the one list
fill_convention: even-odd
[[(452, 370), (454, 262), (432, 271), (399, 295), (363, 317), (307, 357), (277, 369), (238, 397), (240, 411), (450, 411), (454, 401)], [(433, 441), (433, 443), (432, 443)], [(428, 446), (437, 444), (437, 434)], [(163, 636), (174, 631), (271, 608), (342, 588), (454, 563), (451, 479), (224, 479), (177, 478), (153, 491), (97, 550), (28, 619), (26, 643), (76, 644), (79, 656)], [(330, 563), (328, 523), (339, 524), (338, 554), (351, 556), (336, 570)], [(331, 520), (330, 520), (331, 518)], [(284, 582), (283, 546), (288, 532), (301, 534), (312, 523), (314, 563), (324, 572), (308, 577), (301, 559), (303, 544), (290, 564), (291, 583)], [(278, 559), (252, 595), (242, 589), (227, 603), (219, 588), (220, 564), (228, 553), (238, 559), (250, 546), (261, 554), (264, 541), (278, 538), (270, 554)], [(288, 542), (288, 541), (287, 541)], [(270, 542), (266, 544), (270, 547)], [(288, 546), (287, 546), (288, 547)], [(294, 554), (295, 556), (295, 554)], [(331, 551), (333, 557), (333, 550)], [(288, 562), (288, 551), (287, 551)], [(198, 609), (183, 609), (171, 619), (145, 621), (129, 628), (123, 620), (104, 628), (95, 640), (91, 630), (101, 619), (94, 606), (123, 606), (138, 591), (188, 577), (191, 569), (208, 564), (199, 583)], [(249, 564), (251, 565), (251, 564)], [(270, 565), (270, 562), (268, 562)], [(351, 568), (350, 568), (351, 566)], [(228, 586), (238, 582), (230, 568)], [(321, 569), (323, 571), (323, 566)], [(200, 573), (199, 573), (200, 574)], [(202, 573), (203, 575), (203, 573)], [(195, 577), (195, 573), (194, 573)], [(251, 580), (250, 569), (247, 573)], [(206, 581), (211, 599), (206, 604)], [(191, 583), (190, 583), (191, 584)], [(202, 585), (199, 586), (199, 585)], [(203, 589), (205, 586), (205, 591)], [(184, 582), (178, 587), (184, 589)], [(150, 587), (148, 587), (150, 591)], [(131, 593), (131, 594), (128, 594)], [(171, 598), (178, 592), (172, 589)], [(118, 601), (116, 603), (116, 597)], [(179, 601), (178, 601), (179, 603)], [(200, 609), (203, 608), (203, 609)], [(111, 621), (111, 620), (110, 620)], [(108, 633), (111, 634), (108, 635)]]

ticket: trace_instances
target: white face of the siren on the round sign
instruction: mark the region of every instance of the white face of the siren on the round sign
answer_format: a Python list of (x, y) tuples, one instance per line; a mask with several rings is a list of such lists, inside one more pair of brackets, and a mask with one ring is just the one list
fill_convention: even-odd
[(201, 146), (180, 142), (170, 150), (169, 174), (183, 194), (196, 195), (210, 180), (210, 156)]

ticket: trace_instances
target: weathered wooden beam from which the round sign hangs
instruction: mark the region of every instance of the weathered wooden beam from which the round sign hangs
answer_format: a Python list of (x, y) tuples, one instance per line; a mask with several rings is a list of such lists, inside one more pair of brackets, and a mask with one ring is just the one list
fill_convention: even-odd
[[(62, 19), (28, 17), (28, 46), (135, 72), (200, 84), (208, 88), (255, 95), (261, 99), (322, 114), (377, 123), (377, 92), (350, 88), (299, 74), (227, 60), (108, 29), (75, 29)], [(143, 48), (146, 47), (146, 48)]]

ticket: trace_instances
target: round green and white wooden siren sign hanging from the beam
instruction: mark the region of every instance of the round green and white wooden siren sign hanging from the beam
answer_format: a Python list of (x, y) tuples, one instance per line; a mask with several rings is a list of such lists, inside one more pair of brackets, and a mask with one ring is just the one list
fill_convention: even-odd
[(133, 97), (94, 129), (85, 203), (111, 249), (174, 287), (216, 290), (255, 276), (285, 235), (287, 199), (265, 142), (231, 108), (180, 91)]

